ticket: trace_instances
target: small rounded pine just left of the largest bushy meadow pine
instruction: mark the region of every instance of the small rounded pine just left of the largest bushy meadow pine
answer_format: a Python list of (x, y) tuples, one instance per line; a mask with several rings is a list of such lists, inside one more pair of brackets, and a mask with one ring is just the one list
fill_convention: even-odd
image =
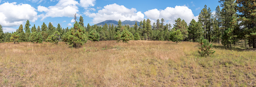
[(49, 41), (54, 44), (58, 44), (60, 41), (60, 33), (58, 31), (55, 31), (52, 35), (50, 35), (46, 41)]

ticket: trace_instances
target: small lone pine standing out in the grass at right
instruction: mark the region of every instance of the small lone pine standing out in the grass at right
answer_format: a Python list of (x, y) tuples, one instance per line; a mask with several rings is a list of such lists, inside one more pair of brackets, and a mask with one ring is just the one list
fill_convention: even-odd
[(198, 49), (200, 49), (201, 51), (198, 51), (198, 53), (201, 56), (209, 56), (210, 54), (213, 54), (215, 51), (211, 50), (212, 49), (212, 44), (210, 44), (206, 39), (204, 39), (204, 37), (201, 37), (198, 40), (200, 47), (198, 47)]

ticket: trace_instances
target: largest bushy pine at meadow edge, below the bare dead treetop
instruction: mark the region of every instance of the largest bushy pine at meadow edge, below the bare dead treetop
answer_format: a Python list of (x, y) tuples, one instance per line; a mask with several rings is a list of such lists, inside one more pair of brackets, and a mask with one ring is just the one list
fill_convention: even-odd
[(66, 42), (70, 47), (78, 48), (87, 42), (87, 32), (85, 29), (76, 22), (67, 33), (63, 36), (63, 41)]

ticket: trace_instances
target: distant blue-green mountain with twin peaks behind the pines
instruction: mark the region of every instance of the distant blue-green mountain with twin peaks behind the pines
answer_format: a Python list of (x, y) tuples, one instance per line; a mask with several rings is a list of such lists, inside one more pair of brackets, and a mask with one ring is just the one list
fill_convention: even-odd
[[(140, 22), (138, 22), (137, 20), (134, 20), (134, 21), (131, 21), (131, 20), (124, 20), (124, 21), (122, 22), (122, 26), (127, 25), (127, 26), (132, 27), (132, 26), (134, 26), (135, 22), (137, 22), (137, 24), (140, 23)], [(112, 26), (112, 24), (113, 24), (113, 26), (117, 26), (117, 25), (118, 25), (118, 21), (115, 21), (115, 20), (105, 20), (104, 22), (97, 23), (96, 25), (97, 25), (97, 26), (104, 26), (105, 23), (108, 24), (108, 26), (109, 26), (109, 24), (110, 24), (111, 26)]]

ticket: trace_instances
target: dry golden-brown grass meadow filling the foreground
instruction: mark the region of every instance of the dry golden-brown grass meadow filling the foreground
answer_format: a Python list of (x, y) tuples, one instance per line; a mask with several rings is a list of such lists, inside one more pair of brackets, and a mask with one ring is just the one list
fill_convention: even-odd
[(256, 86), (256, 51), (171, 41), (0, 43), (0, 86)]

